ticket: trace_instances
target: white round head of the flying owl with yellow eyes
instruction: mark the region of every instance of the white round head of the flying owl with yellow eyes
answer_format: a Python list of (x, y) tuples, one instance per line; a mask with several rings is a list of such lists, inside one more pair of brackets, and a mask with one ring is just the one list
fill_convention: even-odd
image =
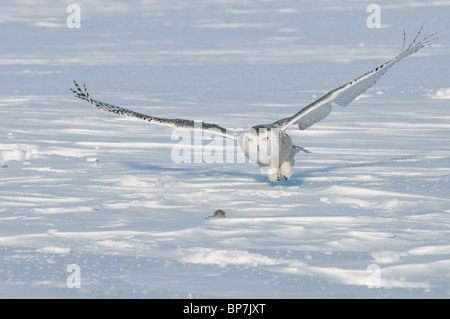
[(267, 125), (258, 125), (244, 131), (239, 145), (244, 154), (260, 165), (277, 166), (280, 148), (280, 130)]

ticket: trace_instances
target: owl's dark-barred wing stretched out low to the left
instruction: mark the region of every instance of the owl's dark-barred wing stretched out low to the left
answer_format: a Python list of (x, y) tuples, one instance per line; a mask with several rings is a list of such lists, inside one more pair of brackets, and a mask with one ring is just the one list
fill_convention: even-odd
[(183, 120), (183, 119), (166, 119), (166, 118), (160, 118), (150, 115), (145, 115), (142, 113), (134, 112), (131, 110), (128, 110), (126, 108), (108, 104), (105, 102), (100, 102), (97, 100), (94, 100), (90, 97), (89, 93), (87, 92), (86, 86), (83, 85), (83, 89), (78, 85), (76, 81), (73, 81), (75, 83), (75, 88), (70, 89), (73, 93), (75, 93), (75, 96), (86, 100), (89, 103), (93, 104), (97, 108), (103, 111), (111, 112), (120, 116), (124, 117), (132, 117), (141, 119), (150, 123), (158, 124), (158, 125), (164, 125), (169, 126), (172, 128), (187, 128), (190, 130), (198, 130), (203, 132), (208, 132), (216, 135), (221, 135), (227, 138), (236, 139), (237, 135), (234, 131), (227, 130), (219, 125), (216, 124), (210, 124), (210, 123), (204, 123), (204, 122), (197, 122), (192, 120)]

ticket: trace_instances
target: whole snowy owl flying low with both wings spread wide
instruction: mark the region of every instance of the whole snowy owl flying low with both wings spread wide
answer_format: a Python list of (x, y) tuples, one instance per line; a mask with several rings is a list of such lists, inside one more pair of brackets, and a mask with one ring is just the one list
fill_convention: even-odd
[(172, 128), (201, 130), (237, 140), (245, 156), (259, 165), (271, 181), (279, 181), (280, 172), (287, 180), (292, 176), (295, 154), (300, 151), (309, 153), (303, 147), (292, 143), (291, 137), (286, 133), (287, 128), (296, 124), (300, 130), (305, 130), (328, 116), (332, 110), (333, 103), (340, 106), (348, 105), (357, 96), (372, 87), (395, 63), (425, 47), (430, 41), (437, 39), (434, 37), (435, 34), (431, 34), (418, 41), (422, 27), (408, 47), (405, 47), (405, 34), (403, 34), (403, 46), (395, 58), (328, 92), (290, 117), (277, 120), (271, 124), (256, 125), (247, 130), (228, 130), (216, 124), (202, 123), (198, 125), (192, 120), (166, 119), (137, 113), (120, 106), (92, 99), (87, 92), (86, 86), (84, 85), (83, 89), (81, 89), (76, 81), (74, 81), (76, 90), (70, 90), (75, 93), (76, 97), (92, 103), (101, 110), (117, 115), (138, 118)]

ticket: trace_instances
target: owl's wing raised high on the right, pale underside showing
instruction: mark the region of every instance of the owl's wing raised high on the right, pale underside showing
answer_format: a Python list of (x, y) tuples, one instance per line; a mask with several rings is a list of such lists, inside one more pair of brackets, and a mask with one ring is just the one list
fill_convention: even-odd
[[(423, 25), (422, 25), (423, 27)], [(274, 124), (277, 124), (281, 130), (286, 130), (290, 125), (297, 124), (300, 130), (305, 130), (311, 125), (324, 119), (328, 114), (330, 114), (332, 109), (332, 103), (336, 103), (340, 106), (347, 106), (352, 102), (357, 96), (366, 91), (368, 88), (373, 86), (381, 76), (386, 73), (386, 71), (393, 66), (395, 63), (399, 62), (401, 59), (419, 51), (421, 48), (426, 46), (430, 41), (437, 39), (434, 37), (436, 33), (433, 33), (420, 41), (417, 38), (422, 31), (422, 27), (415, 36), (411, 44), (405, 49), (405, 37), (403, 37), (403, 47), (395, 58), (386, 63), (380, 65), (372, 71), (354, 79), (353, 81), (344, 84), (337, 89), (334, 89), (318, 100), (312, 102), (308, 106), (304, 107), (298, 113), (291, 117), (281, 119)], [(403, 34), (404, 35), (404, 34)], [(417, 41), (417, 42), (416, 42)]]

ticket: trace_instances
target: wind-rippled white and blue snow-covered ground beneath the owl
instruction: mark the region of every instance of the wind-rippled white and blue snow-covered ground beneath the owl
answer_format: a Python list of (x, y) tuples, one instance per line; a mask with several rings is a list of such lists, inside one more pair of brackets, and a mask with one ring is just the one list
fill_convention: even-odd
[[(450, 2), (378, 1), (381, 28), (370, 3), (2, 3), (0, 298), (448, 298)], [(439, 40), (289, 129), (312, 153), (279, 183), (248, 162), (175, 163), (171, 129), (69, 91), (247, 128), (394, 57), (422, 22)]]

